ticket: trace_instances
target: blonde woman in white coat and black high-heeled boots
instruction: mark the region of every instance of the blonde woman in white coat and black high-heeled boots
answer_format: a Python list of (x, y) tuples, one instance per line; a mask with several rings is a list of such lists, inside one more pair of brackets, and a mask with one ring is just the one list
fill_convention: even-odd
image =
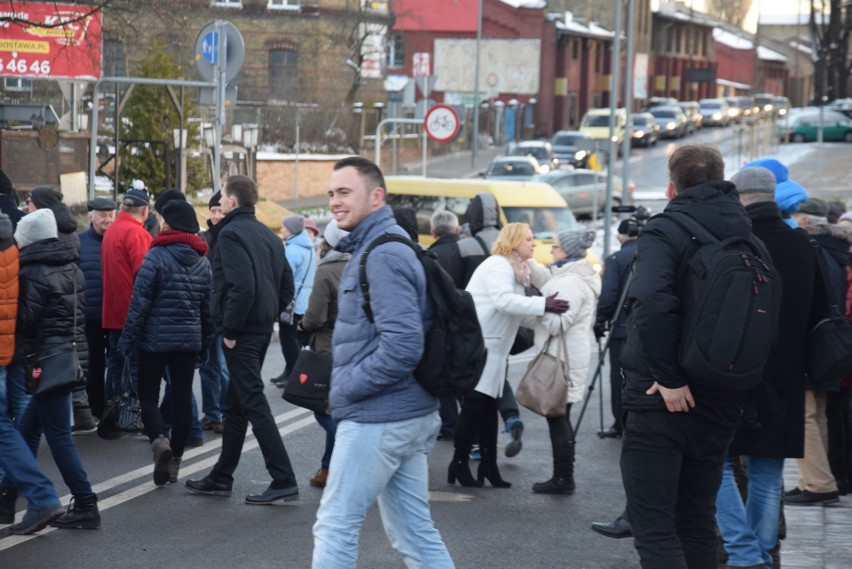
[[(488, 358), (474, 390), (462, 398), (455, 434), (455, 454), (450, 463), (447, 482), (458, 479), (462, 486), (482, 486), (487, 478), (492, 486), (511, 486), (497, 469), (497, 401), (506, 379), (506, 361), (521, 321), (543, 316), (545, 312), (562, 313), (568, 303), (556, 295), (528, 297), (529, 286), (541, 287), (550, 278), (547, 269), (533, 259), (535, 239), (526, 223), (510, 223), (502, 229), (491, 249), (493, 253), (474, 271), (467, 291), (473, 296), (476, 315), (482, 327)], [(468, 467), (471, 444), (479, 434), (482, 462), (477, 478)]]

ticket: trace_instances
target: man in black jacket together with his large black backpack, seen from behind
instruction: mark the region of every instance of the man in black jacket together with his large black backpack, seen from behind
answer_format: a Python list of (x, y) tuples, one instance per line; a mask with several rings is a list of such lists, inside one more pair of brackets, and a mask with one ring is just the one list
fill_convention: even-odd
[[(762, 367), (746, 364), (761, 356), (765, 361), (771, 319), (777, 319), (776, 275), (761, 258), (765, 249), (751, 235), (751, 222), (735, 186), (724, 181), (724, 170), (714, 146), (677, 148), (669, 157), (671, 201), (637, 239), (621, 359), (626, 412), (621, 471), (645, 569), (716, 569), (714, 514), (722, 462), (742, 416), (741, 390), (763, 373)], [(743, 266), (752, 269), (749, 286), (736, 288), (733, 297), (748, 306), (758, 302), (750, 317), (766, 324), (762, 333), (768, 339), (760, 340), (769, 343), (739, 354), (745, 368), (742, 381), (725, 371), (739, 371), (738, 357), (732, 355), (720, 366), (712, 345), (718, 340), (713, 324), (741, 314), (724, 303), (715, 314), (703, 314), (706, 303), (696, 298), (716, 292), (710, 281), (720, 277), (716, 263), (728, 261), (730, 249), (741, 255), (740, 266), (734, 267), (737, 277)], [(701, 272), (708, 283), (699, 281), (696, 273)]]

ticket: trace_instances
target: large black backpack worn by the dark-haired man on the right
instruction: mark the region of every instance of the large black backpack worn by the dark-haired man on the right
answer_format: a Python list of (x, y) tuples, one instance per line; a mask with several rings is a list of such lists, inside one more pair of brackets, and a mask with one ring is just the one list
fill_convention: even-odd
[(769, 253), (753, 235), (719, 241), (687, 214), (660, 215), (701, 243), (683, 283), (680, 367), (696, 383), (754, 389), (778, 331), (781, 279)]

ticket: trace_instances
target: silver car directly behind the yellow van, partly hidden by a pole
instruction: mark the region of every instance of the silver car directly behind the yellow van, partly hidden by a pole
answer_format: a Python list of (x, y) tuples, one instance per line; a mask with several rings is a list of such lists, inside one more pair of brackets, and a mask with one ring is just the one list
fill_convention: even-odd
[[(559, 192), (568, 207), (577, 216), (591, 216), (595, 211), (603, 212), (606, 200), (606, 174), (595, 170), (577, 169), (567, 172), (550, 172), (533, 178), (536, 182), (550, 184)], [(630, 188), (628, 188), (630, 191)], [(613, 177), (612, 205), (624, 201), (624, 183)]]

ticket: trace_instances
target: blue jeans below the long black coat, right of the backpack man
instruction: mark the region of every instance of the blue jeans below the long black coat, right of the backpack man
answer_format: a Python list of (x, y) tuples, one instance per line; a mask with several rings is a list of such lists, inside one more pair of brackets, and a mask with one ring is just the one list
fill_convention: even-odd
[(778, 538), (784, 460), (746, 457), (748, 495), (743, 503), (731, 459), (725, 460), (722, 485), (716, 494), (716, 522), (728, 552), (728, 565), (772, 567), (770, 551)]

